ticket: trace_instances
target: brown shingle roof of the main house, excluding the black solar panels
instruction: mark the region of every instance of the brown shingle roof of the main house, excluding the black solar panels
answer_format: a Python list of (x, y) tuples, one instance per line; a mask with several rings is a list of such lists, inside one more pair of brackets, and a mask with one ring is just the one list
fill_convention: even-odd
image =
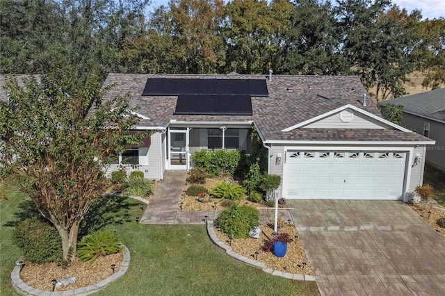
[[(194, 115), (175, 114), (177, 96), (143, 96), (145, 83), (150, 78), (170, 79), (263, 79), (267, 83), (267, 97), (252, 97), (252, 115)], [(292, 141), (428, 141), (428, 138), (395, 126), (383, 119), (368, 92), (356, 76), (300, 76), (276, 75), (193, 75), (193, 74), (109, 74), (104, 86), (114, 85), (108, 97), (129, 94), (130, 107), (149, 117), (139, 125), (163, 128), (170, 123), (217, 124), (221, 122), (254, 122), (266, 142)], [(363, 104), (364, 94), (369, 98)], [(352, 106), (364, 115), (373, 117), (386, 129), (310, 129), (292, 126), (323, 117), (330, 111)]]

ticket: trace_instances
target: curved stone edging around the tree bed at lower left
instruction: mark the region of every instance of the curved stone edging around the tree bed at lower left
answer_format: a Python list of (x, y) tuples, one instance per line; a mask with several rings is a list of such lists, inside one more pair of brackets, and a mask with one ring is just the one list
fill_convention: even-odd
[(40, 295), (40, 296), (67, 296), (67, 295), (90, 295), (92, 293), (96, 293), (99, 290), (102, 290), (113, 281), (116, 281), (120, 277), (122, 277), (125, 272), (127, 272), (130, 265), (130, 251), (124, 245), (124, 249), (122, 249), (122, 254), (124, 258), (122, 259), (122, 265), (120, 265), (120, 269), (118, 272), (113, 274), (111, 277), (108, 277), (98, 283), (95, 283), (91, 286), (86, 286), (83, 288), (78, 288), (74, 290), (66, 290), (66, 291), (42, 291), (31, 286), (28, 286), (22, 279), (20, 279), (20, 266), (17, 265), (11, 272), (11, 281), (13, 282), (13, 287), (17, 292), (22, 293), (24, 295)]

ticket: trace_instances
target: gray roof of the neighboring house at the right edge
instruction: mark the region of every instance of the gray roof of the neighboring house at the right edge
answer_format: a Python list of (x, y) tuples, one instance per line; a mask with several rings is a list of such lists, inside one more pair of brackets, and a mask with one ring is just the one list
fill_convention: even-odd
[(403, 105), (403, 112), (445, 123), (445, 88), (430, 90), (379, 103)]

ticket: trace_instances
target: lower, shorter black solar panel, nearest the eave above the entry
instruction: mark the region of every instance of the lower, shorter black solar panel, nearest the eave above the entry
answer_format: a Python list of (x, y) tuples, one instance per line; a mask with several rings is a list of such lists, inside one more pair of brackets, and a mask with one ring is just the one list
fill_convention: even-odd
[(249, 95), (179, 94), (176, 115), (252, 115)]

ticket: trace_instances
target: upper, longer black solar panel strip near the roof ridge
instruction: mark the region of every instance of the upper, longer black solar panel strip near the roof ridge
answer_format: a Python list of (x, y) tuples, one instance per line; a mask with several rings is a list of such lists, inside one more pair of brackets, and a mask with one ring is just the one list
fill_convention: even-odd
[(149, 78), (143, 96), (177, 96), (179, 94), (231, 94), (267, 97), (264, 79), (195, 79)]

